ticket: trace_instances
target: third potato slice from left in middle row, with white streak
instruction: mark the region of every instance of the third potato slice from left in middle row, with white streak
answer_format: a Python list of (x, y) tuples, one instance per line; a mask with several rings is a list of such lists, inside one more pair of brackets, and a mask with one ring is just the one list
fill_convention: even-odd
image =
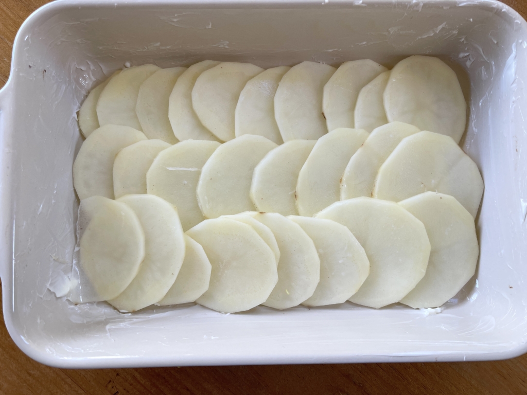
[(219, 146), (216, 141), (182, 141), (162, 151), (147, 173), (147, 192), (178, 208), (184, 231), (204, 220), (196, 188), (201, 168)]

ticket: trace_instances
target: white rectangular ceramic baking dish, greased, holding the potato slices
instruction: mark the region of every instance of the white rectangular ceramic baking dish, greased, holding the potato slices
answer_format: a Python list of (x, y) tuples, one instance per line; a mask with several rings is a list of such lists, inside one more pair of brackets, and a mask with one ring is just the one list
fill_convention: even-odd
[[(0, 91), (1, 260), (7, 329), (63, 368), (462, 361), (527, 351), (527, 24), (496, 1), (56, 1), (19, 30)], [(463, 149), (485, 191), (476, 276), (441, 311), (351, 303), (220, 314), (197, 305), (120, 314), (64, 297), (78, 203), (75, 113), (124, 64), (205, 59), (386, 66), (436, 55), (460, 75)], [(524, 115), (525, 113), (525, 115)], [(525, 146), (525, 150), (523, 147)]]

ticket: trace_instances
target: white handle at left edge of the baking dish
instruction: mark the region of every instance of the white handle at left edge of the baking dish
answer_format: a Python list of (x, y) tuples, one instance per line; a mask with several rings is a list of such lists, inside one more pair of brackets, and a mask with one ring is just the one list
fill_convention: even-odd
[(7, 287), (9, 256), (13, 248), (13, 223), (11, 218), (11, 155), (12, 155), (12, 83), (11, 78), (0, 89), (0, 279)]

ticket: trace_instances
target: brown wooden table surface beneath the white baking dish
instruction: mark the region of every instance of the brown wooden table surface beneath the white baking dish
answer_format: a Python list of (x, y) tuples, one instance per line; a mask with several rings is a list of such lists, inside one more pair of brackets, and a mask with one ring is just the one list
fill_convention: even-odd
[[(0, 0), (0, 86), (18, 27), (45, 0)], [(527, 0), (505, 0), (527, 15)], [(0, 295), (1, 297), (1, 295)], [(2, 394), (527, 393), (527, 354), (507, 361), (66, 370), (25, 356), (0, 324)]]

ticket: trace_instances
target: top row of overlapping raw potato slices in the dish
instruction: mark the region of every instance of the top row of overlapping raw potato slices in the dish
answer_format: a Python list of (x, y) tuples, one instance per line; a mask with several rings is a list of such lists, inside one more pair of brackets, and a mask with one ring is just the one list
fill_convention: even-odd
[(170, 144), (225, 142), (245, 134), (281, 144), (316, 140), (338, 127), (371, 132), (392, 121), (450, 135), (458, 143), (466, 102), (456, 74), (428, 56), (408, 57), (392, 71), (371, 60), (268, 70), (216, 61), (167, 69), (149, 64), (115, 72), (92, 90), (79, 112), (86, 137), (115, 124)]

